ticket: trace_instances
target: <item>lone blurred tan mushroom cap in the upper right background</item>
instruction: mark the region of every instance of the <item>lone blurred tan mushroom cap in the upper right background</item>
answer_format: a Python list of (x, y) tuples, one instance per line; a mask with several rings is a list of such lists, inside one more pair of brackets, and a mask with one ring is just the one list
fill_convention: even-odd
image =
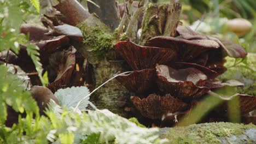
[(228, 20), (226, 23), (226, 28), (229, 31), (236, 33), (237, 35), (243, 35), (252, 28), (252, 23), (246, 19), (236, 18)]

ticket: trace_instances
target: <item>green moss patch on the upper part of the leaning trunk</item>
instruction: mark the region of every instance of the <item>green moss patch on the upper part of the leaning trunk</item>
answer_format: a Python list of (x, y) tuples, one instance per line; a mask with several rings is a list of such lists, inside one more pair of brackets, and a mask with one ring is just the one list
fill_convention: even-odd
[(77, 27), (83, 32), (84, 44), (90, 47), (88, 51), (95, 52), (101, 57), (113, 48), (114, 35), (96, 16), (89, 17), (88, 20), (80, 23)]

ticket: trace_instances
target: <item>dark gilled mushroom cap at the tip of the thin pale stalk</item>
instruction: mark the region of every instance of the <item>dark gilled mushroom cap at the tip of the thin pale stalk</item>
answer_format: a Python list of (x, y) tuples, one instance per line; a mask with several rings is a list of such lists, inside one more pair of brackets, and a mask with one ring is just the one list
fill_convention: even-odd
[(155, 69), (143, 69), (133, 71), (131, 74), (120, 75), (116, 79), (130, 92), (136, 95), (149, 94), (154, 89), (156, 72)]

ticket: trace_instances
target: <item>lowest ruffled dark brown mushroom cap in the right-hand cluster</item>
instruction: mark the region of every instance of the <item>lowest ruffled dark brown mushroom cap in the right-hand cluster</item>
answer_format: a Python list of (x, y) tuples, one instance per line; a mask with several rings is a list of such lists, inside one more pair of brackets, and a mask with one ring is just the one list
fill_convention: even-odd
[(187, 104), (172, 97), (170, 94), (160, 96), (150, 94), (147, 98), (131, 97), (133, 105), (141, 115), (150, 119), (161, 119), (167, 113), (174, 113), (187, 109)]

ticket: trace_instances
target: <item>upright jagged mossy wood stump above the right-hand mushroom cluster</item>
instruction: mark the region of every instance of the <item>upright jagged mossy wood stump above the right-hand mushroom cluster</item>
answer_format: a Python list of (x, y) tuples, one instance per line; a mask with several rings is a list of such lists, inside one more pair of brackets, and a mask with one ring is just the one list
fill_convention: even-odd
[(174, 36), (181, 14), (181, 4), (170, 1), (170, 4), (149, 4), (142, 22), (140, 45), (150, 38), (166, 35)]

